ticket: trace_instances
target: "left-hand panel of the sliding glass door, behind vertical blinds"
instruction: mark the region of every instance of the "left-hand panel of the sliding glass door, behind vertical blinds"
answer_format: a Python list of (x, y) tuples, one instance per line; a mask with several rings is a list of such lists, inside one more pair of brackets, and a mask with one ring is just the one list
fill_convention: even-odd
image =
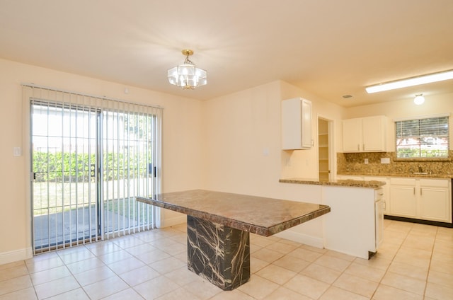
[(96, 240), (101, 112), (38, 100), (31, 112), (35, 249)]

